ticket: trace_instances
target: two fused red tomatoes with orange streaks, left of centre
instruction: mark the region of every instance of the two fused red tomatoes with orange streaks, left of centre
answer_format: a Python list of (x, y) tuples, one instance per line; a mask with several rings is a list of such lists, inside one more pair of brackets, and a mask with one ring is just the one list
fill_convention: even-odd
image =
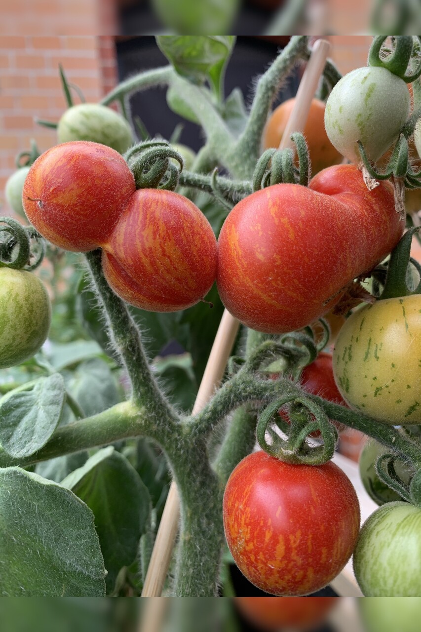
[(123, 157), (99, 143), (52, 147), (23, 187), (28, 219), (65, 250), (102, 248), (107, 281), (132, 305), (191, 307), (216, 277), (216, 238), (202, 212), (173, 191), (136, 190)]

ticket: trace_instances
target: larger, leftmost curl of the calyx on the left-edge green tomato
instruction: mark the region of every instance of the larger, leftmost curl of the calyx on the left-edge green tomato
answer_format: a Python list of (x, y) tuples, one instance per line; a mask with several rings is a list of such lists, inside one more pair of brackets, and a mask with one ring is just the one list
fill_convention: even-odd
[(28, 265), (29, 256), (30, 241), (25, 228), (11, 217), (0, 217), (0, 267), (21, 269)]

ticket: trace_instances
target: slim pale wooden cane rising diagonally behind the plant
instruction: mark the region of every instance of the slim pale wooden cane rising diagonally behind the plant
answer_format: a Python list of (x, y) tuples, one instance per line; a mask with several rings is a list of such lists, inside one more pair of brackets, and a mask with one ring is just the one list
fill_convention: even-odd
[[(279, 149), (291, 147), (290, 136), (294, 131), (302, 131), (307, 121), (310, 104), (314, 97), (320, 76), (322, 75), (329, 54), (330, 44), (326, 40), (315, 42), (307, 68), (303, 73), (296, 94), (295, 106), (286, 125)], [(224, 374), (231, 349), (238, 331), (239, 323), (227, 310), (224, 311), (214, 344), (210, 351), (205, 373), (198, 390), (192, 414), (198, 413), (209, 401)], [(173, 552), (174, 541), (180, 518), (180, 499), (176, 483), (171, 483), (168, 498), (162, 513), (157, 537), (150, 557), (149, 568), (143, 585), (142, 597), (159, 597)], [(146, 631), (145, 631), (146, 632)], [(147, 632), (158, 632), (151, 628)]]

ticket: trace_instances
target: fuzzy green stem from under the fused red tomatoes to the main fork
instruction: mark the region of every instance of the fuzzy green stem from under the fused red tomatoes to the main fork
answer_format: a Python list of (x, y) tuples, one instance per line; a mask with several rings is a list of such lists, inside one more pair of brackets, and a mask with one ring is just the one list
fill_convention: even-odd
[(126, 367), (133, 389), (133, 401), (147, 406), (156, 423), (164, 428), (177, 422), (178, 416), (164, 398), (150, 371), (140, 332), (124, 301), (108, 285), (101, 265), (101, 250), (86, 253), (92, 282), (106, 313), (109, 333), (114, 348)]

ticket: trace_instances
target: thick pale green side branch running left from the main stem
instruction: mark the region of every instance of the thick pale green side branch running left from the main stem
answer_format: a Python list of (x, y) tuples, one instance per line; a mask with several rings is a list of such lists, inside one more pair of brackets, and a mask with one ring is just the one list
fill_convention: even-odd
[(15, 465), (24, 467), (54, 459), (57, 456), (106, 446), (121, 439), (150, 435), (151, 430), (149, 415), (145, 408), (139, 408), (133, 402), (125, 401), (98, 415), (59, 427), (46, 445), (31, 456), (16, 459), (0, 448), (0, 467)]

